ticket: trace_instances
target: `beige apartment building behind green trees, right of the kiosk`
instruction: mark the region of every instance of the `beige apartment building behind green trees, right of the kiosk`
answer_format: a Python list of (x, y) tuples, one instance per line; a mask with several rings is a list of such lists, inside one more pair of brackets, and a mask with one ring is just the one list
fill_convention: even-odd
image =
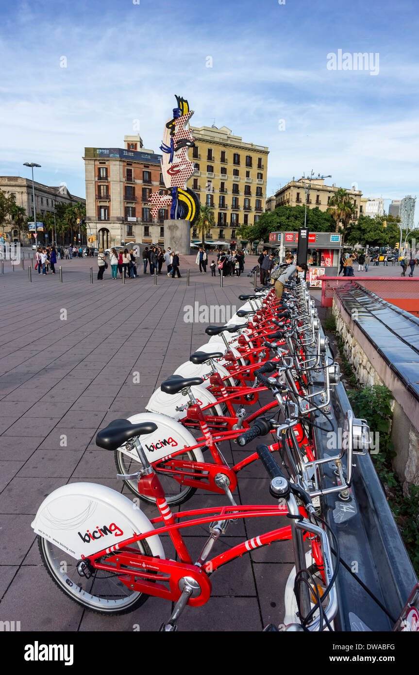
[[(311, 184), (310, 192), (306, 195), (305, 188), (308, 188), (309, 184)], [(339, 188), (335, 184), (325, 185), (324, 178), (299, 178), (299, 180), (293, 178), (275, 193), (275, 207), (283, 205), (304, 206), (306, 203), (309, 209), (318, 207), (320, 211), (326, 211), (331, 197), (337, 190)], [(355, 212), (352, 220), (356, 221), (360, 215), (362, 192), (360, 190), (347, 190), (347, 193), (354, 202)]]

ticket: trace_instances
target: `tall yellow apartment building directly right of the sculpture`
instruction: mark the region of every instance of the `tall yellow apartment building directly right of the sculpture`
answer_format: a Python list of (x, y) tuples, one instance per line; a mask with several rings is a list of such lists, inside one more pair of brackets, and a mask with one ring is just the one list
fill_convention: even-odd
[[(239, 225), (253, 225), (264, 211), (267, 190), (266, 146), (247, 143), (223, 126), (192, 127), (195, 147), (189, 152), (196, 173), (188, 187), (200, 204), (213, 208), (215, 227), (206, 240), (237, 244)], [(199, 240), (192, 229), (192, 241)]]

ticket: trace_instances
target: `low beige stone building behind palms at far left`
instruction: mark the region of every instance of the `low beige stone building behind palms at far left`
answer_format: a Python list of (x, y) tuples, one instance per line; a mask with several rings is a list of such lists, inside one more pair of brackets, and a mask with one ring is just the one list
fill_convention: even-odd
[[(0, 190), (5, 192), (8, 197), (11, 195), (14, 196), (16, 205), (25, 209), (26, 217), (34, 217), (32, 179), (22, 178), (19, 175), (1, 175)], [(81, 202), (83, 206), (86, 204), (86, 200), (83, 197), (77, 197), (74, 194), (71, 194), (65, 183), (61, 183), (61, 185), (57, 187), (49, 187), (43, 183), (38, 183), (35, 180), (34, 191), (36, 213), (40, 213), (41, 215), (45, 215), (45, 213), (54, 213), (55, 205), (60, 202), (67, 205), (76, 205), (78, 202)], [(9, 224), (5, 223), (3, 227), (5, 229), (5, 234), (11, 235), (11, 241), (17, 242), (19, 240), (18, 229), (13, 227), (11, 221)], [(22, 244), (29, 243), (27, 234), (24, 234), (22, 238), (24, 240), (21, 242)], [(7, 238), (7, 240), (9, 240), (9, 238)]]

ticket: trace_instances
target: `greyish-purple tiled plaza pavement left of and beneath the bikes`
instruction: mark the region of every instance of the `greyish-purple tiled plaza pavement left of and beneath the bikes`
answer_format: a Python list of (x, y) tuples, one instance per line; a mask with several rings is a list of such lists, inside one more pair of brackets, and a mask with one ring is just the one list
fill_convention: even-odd
[[(139, 610), (114, 618), (67, 599), (41, 565), (30, 522), (45, 495), (65, 483), (87, 480), (123, 491), (113, 454), (94, 445), (96, 432), (114, 418), (142, 412), (155, 387), (206, 342), (202, 323), (184, 323), (184, 306), (196, 300), (239, 306), (238, 295), (250, 292), (252, 280), (229, 277), (221, 289), (218, 277), (198, 273), (194, 257), (181, 258), (182, 279), (163, 274), (157, 286), (142, 273), (123, 285), (109, 278), (109, 270), (99, 282), (91, 261), (60, 263), (63, 284), (58, 275), (37, 273), (29, 284), (27, 269), (12, 273), (7, 265), (0, 277), (0, 620), (20, 620), (22, 630), (132, 630), (134, 624), (157, 630), (170, 612), (161, 599), (149, 598)], [(246, 272), (253, 264), (247, 259)], [(134, 371), (140, 384), (133, 384)], [(234, 461), (250, 451), (223, 448)], [(260, 465), (243, 471), (236, 494), (243, 504), (271, 503)], [(198, 491), (181, 508), (221, 502)], [(156, 515), (148, 505), (144, 512)], [(278, 522), (231, 524), (215, 554)], [(198, 554), (206, 530), (190, 535), (188, 545)], [(173, 556), (167, 537), (164, 544)], [(211, 599), (204, 607), (188, 607), (179, 630), (260, 630), (282, 622), (291, 561), (291, 544), (278, 543), (220, 568), (211, 578)]]

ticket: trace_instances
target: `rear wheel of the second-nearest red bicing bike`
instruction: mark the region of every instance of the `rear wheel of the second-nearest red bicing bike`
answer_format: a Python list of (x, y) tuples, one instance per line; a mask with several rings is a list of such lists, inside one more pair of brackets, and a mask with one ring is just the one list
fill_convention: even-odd
[[(177, 460), (188, 460), (190, 462), (198, 462), (193, 450), (188, 450), (187, 452), (182, 453), (181, 455), (176, 456)], [(135, 473), (142, 468), (140, 460), (136, 460), (125, 452), (121, 450), (115, 450), (115, 464), (118, 470), (118, 473)], [(190, 485), (180, 485), (174, 478), (166, 475), (164, 472), (160, 472), (159, 469), (156, 470), (157, 475), (159, 476), (159, 481), (161, 482), (161, 487), (165, 491), (167, 504), (170, 506), (176, 506), (177, 504), (183, 504), (186, 502), (194, 492), (196, 492), (196, 487), (191, 487)], [(125, 479), (123, 481), (128, 489), (137, 497), (140, 497), (143, 502), (148, 504), (155, 504), (156, 500), (154, 497), (146, 497), (138, 491), (138, 481), (133, 479)]]

